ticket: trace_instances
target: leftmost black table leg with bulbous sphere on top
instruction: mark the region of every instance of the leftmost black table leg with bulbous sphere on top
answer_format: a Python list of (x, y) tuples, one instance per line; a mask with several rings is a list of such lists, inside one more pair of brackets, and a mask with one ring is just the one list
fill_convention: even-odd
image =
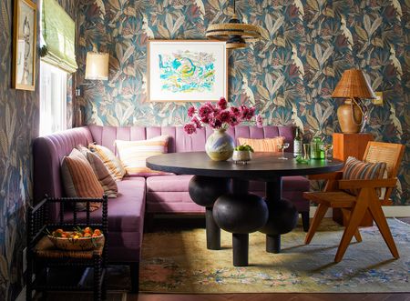
[(190, 179), (190, 198), (198, 205), (205, 206), (207, 227), (207, 248), (220, 250), (220, 227), (215, 223), (212, 206), (217, 198), (230, 191), (231, 179), (212, 176), (193, 176)]

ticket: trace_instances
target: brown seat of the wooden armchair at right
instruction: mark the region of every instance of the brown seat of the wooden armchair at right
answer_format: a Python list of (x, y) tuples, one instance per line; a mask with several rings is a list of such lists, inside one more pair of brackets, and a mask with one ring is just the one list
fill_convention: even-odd
[(304, 192), (303, 197), (314, 203), (325, 204), (333, 208), (349, 208), (356, 202), (355, 196), (349, 195), (344, 191), (332, 192)]

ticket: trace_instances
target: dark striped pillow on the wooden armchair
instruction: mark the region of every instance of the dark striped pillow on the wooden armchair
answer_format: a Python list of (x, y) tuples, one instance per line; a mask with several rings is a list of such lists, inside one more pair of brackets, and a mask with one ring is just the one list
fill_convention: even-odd
[[(386, 164), (379, 163), (365, 163), (357, 160), (353, 156), (349, 156), (343, 167), (343, 180), (374, 180), (381, 179), (384, 175)], [(357, 196), (360, 189), (345, 189), (345, 192)], [(377, 196), (380, 196), (380, 189), (376, 191)]]

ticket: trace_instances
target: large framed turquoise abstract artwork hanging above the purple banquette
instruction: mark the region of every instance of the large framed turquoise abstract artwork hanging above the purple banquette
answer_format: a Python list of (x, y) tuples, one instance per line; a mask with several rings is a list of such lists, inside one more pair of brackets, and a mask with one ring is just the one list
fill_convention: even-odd
[(147, 73), (152, 102), (206, 102), (228, 96), (225, 42), (151, 40)]

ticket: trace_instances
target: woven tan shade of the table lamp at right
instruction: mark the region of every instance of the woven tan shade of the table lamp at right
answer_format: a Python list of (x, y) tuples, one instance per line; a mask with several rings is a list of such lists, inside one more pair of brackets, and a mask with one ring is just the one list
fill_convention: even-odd
[(359, 69), (349, 69), (343, 72), (340, 82), (336, 85), (334, 98), (376, 98), (372, 87)]

